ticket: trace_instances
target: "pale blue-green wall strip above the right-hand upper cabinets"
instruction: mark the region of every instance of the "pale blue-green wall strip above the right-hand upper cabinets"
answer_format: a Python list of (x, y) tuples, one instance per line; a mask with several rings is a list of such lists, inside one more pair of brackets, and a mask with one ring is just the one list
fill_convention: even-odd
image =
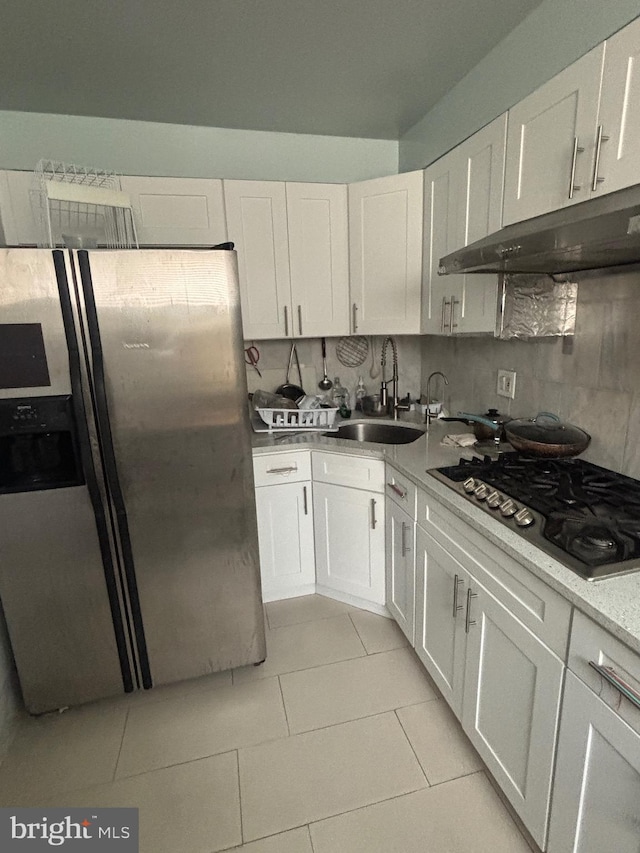
[(401, 138), (400, 171), (428, 166), (639, 14), (638, 0), (544, 0)]

